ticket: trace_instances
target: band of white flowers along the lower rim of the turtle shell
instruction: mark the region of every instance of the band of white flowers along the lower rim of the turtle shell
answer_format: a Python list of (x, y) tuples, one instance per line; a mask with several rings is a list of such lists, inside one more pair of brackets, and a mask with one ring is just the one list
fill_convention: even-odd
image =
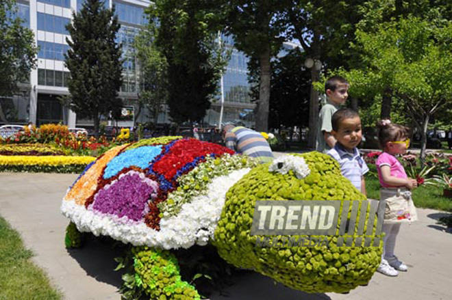
[(86, 210), (73, 201), (63, 201), (62, 213), (71, 219), (81, 232), (107, 235), (132, 245), (147, 245), (164, 249), (205, 245), (213, 237), (221, 217), (227, 191), (251, 169), (239, 169), (218, 176), (208, 185), (208, 193), (198, 195), (182, 206), (178, 215), (162, 218), (160, 231), (142, 222)]

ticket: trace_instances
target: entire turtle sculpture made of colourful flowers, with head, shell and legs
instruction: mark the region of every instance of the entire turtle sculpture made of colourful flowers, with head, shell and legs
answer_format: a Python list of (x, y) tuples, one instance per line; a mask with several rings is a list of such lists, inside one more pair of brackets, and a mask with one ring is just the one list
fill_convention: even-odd
[[(366, 197), (318, 152), (259, 165), (197, 139), (144, 139), (105, 152), (68, 189), (61, 208), (71, 219), (65, 243), (79, 247), (81, 232), (92, 232), (133, 245), (134, 280), (151, 299), (200, 299), (181, 279), (171, 249), (208, 243), (236, 267), (305, 292), (348, 292), (375, 273), (382, 243), (257, 247), (264, 236), (250, 234), (256, 200)], [(375, 224), (373, 232), (381, 241)]]

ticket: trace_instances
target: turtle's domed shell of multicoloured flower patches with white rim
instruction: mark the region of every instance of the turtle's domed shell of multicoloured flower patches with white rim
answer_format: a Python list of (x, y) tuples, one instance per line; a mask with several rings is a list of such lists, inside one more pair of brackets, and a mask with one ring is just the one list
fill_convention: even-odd
[[(217, 212), (218, 209), (201, 204), (205, 201), (213, 205), (216, 201), (213, 196), (201, 198), (208, 193), (210, 185), (223, 189), (225, 194), (249, 171), (248, 168), (240, 176), (232, 172), (249, 166), (249, 161), (234, 159), (237, 156), (234, 154), (218, 144), (181, 137), (117, 146), (86, 167), (66, 193), (62, 213), (81, 231), (112, 236), (134, 245), (171, 249), (207, 243), (223, 204), (216, 204), (220, 209)], [(223, 171), (215, 172), (216, 168)], [(194, 175), (188, 176), (194, 169)], [(181, 182), (184, 182), (182, 187)], [(177, 191), (187, 187), (193, 190), (186, 193), (190, 199), (180, 200)], [(165, 203), (168, 195), (174, 199), (169, 204)], [(224, 196), (220, 198), (217, 200), (224, 200)], [(185, 202), (193, 203), (183, 206)], [(161, 228), (164, 215), (166, 228)], [(200, 221), (206, 216), (207, 219)]]

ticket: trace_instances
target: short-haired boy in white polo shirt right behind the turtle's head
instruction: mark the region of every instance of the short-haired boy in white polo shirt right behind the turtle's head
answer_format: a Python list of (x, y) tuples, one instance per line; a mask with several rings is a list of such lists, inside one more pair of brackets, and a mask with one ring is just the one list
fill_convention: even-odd
[(362, 139), (360, 115), (353, 109), (339, 109), (331, 118), (331, 126), (337, 143), (327, 154), (338, 161), (342, 175), (367, 196), (364, 174), (369, 168), (356, 148)]

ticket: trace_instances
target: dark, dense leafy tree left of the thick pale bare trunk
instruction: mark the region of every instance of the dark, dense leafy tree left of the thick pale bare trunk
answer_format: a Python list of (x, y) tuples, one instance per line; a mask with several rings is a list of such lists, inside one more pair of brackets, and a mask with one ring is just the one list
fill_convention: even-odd
[(218, 5), (206, 0), (157, 0), (149, 19), (168, 64), (168, 107), (173, 122), (201, 121), (218, 92), (227, 60), (214, 22)]

